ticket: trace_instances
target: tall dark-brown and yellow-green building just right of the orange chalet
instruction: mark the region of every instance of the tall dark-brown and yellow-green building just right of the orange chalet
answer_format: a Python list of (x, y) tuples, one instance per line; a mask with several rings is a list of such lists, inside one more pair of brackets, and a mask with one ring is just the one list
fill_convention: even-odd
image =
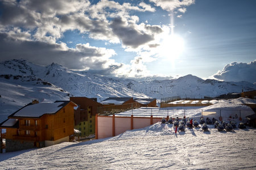
[(70, 97), (70, 101), (73, 101), (78, 105), (75, 110), (75, 129), (81, 131), (81, 137), (88, 137), (91, 134), (95, 134), (95, 117), (99, 107), (103, 107), (102, 104), (97, 102), (97, 99), (89, 99), (87, 97)]

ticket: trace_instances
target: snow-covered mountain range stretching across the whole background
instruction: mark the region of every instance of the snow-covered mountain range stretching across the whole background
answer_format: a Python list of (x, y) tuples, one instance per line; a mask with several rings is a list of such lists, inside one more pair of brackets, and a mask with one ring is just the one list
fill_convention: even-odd
[(144, 81), (109, 78), (73, 71), (52, 63), (48, 66), (34, 65), (23, 59), (12, 59), (0, 63), (0, 114), (11, 114), (32, 99), (68, 100), (69, 96), (97, 97), (204, 97), (254, 90), (249, 82), (220, 82), (203, 80), (193, 75), (178, 79)]

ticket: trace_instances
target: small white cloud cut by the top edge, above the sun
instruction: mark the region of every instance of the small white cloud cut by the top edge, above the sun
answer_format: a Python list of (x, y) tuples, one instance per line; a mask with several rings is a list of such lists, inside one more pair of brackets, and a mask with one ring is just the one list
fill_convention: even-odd
[(195, 0), (183, 0), (183, 1), (180, 1), (180, 0), (172, 0), (172, 1), (150, 0), (150, 2), (154, 2), (156, 6), (160, 6), (161, 8), (163, 8), (163, 10), (172, 11), (172, 10), (182, 7), (182, 6), (192, 5), (193, 3), (195, 3)]

